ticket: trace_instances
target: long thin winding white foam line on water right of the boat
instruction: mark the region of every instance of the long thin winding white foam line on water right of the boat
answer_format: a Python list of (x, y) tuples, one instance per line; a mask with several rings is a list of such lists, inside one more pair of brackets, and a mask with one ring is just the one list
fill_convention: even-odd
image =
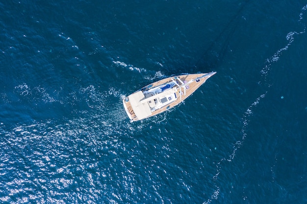
[[(305, 13), (306, 10), (307, 10), (307, 5), (305, 5), (302, 8), (302, 12), (300, 13), (299, 22), (302, 22), (302, 20), (304, 19), (303, 16), (304, 16), (304, 13)], [(270, 83), (268, 83), (266, 81), (266, 78), (267, 78), (267, 76), (270, 73), (272, 63), (275, 63), (275, 62), (280, 60), (282, 52), (286, 51), (289, 48), (289, 46), (294, 42), (294, 36), (295, 35), (300, 35), (300, 34), (304, 34), (304, 33), (306, 33), (306, 25), (305, 24), (304, 24), (304, 30), (303, 31), (300, 31), (300, 32), (291, 31), (291, 32), (289, 32), (286, 35), (286, 39), (288, 41), (287, 45), (285, 45), (284, 47), (279, 49), (276, 53), (274, 53), (274, 55), (272, 57), (266, 59), (265, 66), (260, 70), (260, 73), (262, 75), (262, 80), (259, 82), (259, 84), (263, 83), (265, 85), (265, 91), (260, 96), (258, 96), (256, 98), (256, 100), (247, 108), (247, 110), (243, 114), (243, 116), (242, 116), (243, 127), (242, 127), (242, 130), (241, 130), (242, 138), (241, 138), (241, 140), (238, 140), (238, 141), (235, 142), (235, 144), (233, 145), (233, 151), (229, 155), (229, 157), (228, 158), (223, 158), (223, 159), (221, 159), (217, 163), (217, 165), (216, 165), (217, 172), (216, 172), (215, 176), (213, 176), (213, 178), (212, 178), (213, 181), (217, 181), (217, 179), (218, 179), (218, 176), (219, 176), (219, 174), (221, 172), (222, 162), (224, 162), (224, 161), (231, 162), (232, 159), (235, 156), (236, 151), (240, 147), (242, 147), (243, 142), (244, 142), (244, 140), (245, 140), (245, 138), (247, 136), (246, 129), (247, 129), (249, 121), (250, 121), (250, 116), (253, 114), (253, 110), (259, 104), (261, 99), (266, 96), (266, 94), (268, 92), (268, 89), (272, 86)], [(216, 190), (213, 192), (211, 197), (206, 202), (204, 202), (204, 204), (209, 204), (209, 203), (211, 203), (212, 200), (217, 200), (219, 192), (220, 192), (220, 186), (216, 186)], [(246, 199), (247, 197), (245, 196), (244, 198)]]

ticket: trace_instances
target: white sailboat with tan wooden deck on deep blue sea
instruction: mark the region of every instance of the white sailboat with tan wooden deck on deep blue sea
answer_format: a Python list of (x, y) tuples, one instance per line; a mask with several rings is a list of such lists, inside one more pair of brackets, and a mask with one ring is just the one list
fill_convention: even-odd
[(154, 82), (123, 99), (132, 121), (162, 113), (182, 102), (216, 72), (184, 74)]

